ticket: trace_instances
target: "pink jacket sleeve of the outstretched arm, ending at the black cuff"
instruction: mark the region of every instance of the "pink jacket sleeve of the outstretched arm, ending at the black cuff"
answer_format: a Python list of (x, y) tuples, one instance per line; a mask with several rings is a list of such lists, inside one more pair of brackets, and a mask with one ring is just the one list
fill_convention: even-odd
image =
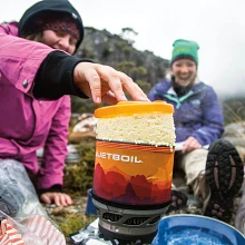
[(33, 80), (45, 58), (53, 49), (18, 37), (16, 22), (0, 24), (0, 71), (12, 85), (32, 95)]

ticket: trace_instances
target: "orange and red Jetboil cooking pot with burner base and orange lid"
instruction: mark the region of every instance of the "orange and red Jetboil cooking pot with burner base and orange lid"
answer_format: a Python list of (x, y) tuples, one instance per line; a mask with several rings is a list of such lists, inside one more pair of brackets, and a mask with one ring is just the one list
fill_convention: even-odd
[[(151, 114), (173, 117), (173, 106), (164, 101), (119, 102), (97, 109), (95, 116), (99, 121), (134, 118), (135, 115), (144, 118)], [(145, 126), (137, 127), (144, 133)], [(154, 124), (148, 127), (155, 134)], [(171, 134), (175, 134), (174, 120), (166, 127), (173, 128)], [(107, 130), (110, 134), (110, 128)], [(150, 243), (170, 203), (174, 147), (117, 140), (112, 134), (112, 139), (97, 135), (96, 143), (92, 202), (99, 217), (99, 231), (111, 239)]]

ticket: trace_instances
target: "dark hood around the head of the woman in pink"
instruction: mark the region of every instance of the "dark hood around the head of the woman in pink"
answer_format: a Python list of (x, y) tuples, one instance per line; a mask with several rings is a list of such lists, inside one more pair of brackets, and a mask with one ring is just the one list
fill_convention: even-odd
[(80, 39), (76, 46), (77, 50), (84, 39), (84, 24), (80, 14), (68, 0), (42, 0), (31, 6), (19, 21), (19, 37), (22, 37), (27, 32), (37, 17), (47, 12), (50, 12), (50, 14), (53, 12), (69, 13), (76, 20), (80, 30)]

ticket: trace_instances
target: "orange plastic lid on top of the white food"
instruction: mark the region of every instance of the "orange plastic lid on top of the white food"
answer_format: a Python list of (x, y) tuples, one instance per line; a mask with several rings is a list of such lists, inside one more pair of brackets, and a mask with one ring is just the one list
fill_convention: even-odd
[(115, 117), (133, 114), (174, 114), (174, 106), (163, 100), (147, 101), (121, 101), (115, 106), (101, 107), (95, 110), (95, 117)]

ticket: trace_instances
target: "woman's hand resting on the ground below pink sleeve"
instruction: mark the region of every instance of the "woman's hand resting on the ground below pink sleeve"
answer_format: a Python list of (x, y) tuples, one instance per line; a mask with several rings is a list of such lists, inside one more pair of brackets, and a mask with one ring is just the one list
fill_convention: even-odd
[(40, 196), (41, 202), (45, 204), (56, 204), (56, 206), (69, 206), (74, 202), (69, 195), (65, 193), (43, 193)]

